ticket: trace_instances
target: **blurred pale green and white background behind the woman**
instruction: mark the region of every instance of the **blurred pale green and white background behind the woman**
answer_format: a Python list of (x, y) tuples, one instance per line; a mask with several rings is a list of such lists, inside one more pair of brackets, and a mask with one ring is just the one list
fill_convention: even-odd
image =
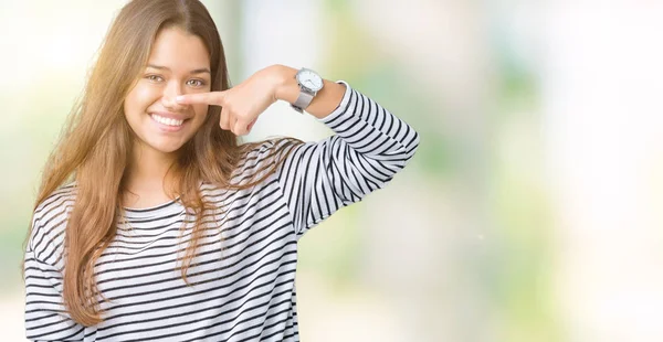
[[(126, 1), (0, 1), (0, 330), (41, 169)], [(203, 1), (233, 84), (344, 79), (421, 146), (299, 243), (304, 341), (661, 341), (663, 6)], [(286, 104), (249, 140), (330, 131)]]

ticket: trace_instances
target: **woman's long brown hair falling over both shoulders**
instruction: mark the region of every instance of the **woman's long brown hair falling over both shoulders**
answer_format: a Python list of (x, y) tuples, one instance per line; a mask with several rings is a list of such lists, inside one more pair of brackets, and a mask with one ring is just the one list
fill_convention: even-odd
[[(118, 13), (110, 26), (98, 60), (91, 71), (83, 96), (74, 105), (62, 137), (51, 153), (34, 209), (60, 186), (75, 181), (75, 203), (65, 231), (63, 300), (71, 318), (83, 324), (103, 321), (96, 298), (94, 265), (110, 244), (122, 217), (125, 172), (131, 160), (134, 132), (123, 103), (145, 67), (159, 30), (177, 26), (199, 36), (210, 54), (211, 90), (229, 88), (223, 46), (209, 12), (197, 0), (134, 0)], [(219, 127), (221, 108), (210, 106), (206, 121), (186, 142), (169, 172), (173, 192), (196, 213), (196, 225), (182, 260), (182, 278), (202, 235), (202, 213), (210, 209), (200, 194), (200, 182), (227, 189), (254, 186), (272, 174), (292, 147), (302, 143), (283, 138), (272, 156), (280, 162), (266, 163), (250, 182), (233, 184), (232, 173), (243, 156), (261, 142), (239, 145), (238, 137)], [(262, 172), (267, 170), (267, 172)], [(257, 174), (261, 177), (256, 177)], [(32, 229), (32, 227), (31, 227)], [(29, 232), (28, 238), (30, 238)]]

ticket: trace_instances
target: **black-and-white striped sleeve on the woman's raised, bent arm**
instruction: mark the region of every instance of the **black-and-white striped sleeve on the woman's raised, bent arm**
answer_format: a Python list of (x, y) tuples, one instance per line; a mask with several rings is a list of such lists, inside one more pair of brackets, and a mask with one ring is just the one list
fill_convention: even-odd
[(277, 174), (297, 237), (387, 185), (419, 146), (412, 127), (339, 83), (346, 86), (340, 105), (318, 119), (335, 135), (295, 147)]

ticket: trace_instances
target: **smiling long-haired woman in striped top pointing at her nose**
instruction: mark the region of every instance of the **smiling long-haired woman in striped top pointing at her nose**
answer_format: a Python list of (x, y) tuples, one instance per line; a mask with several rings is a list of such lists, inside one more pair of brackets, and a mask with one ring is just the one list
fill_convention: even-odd
[[(276, 100), (335, 131), (238, 145)], [(36, 341), (297, 341), (297, 241), (385, 186), (418, 133), (274, 65), (229, 88), (196, 0), (135, 0), (51, 156), (24, 259)]]

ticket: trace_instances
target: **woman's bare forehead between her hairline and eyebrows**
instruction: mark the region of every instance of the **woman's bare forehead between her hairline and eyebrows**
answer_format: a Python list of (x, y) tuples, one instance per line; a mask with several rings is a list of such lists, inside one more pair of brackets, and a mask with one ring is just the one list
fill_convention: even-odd
[(177, 70), (210, 67), (210, 57), (204, 43), (198, 35), (179, 28), (159, 31), (149, 54), (148, 64)]

